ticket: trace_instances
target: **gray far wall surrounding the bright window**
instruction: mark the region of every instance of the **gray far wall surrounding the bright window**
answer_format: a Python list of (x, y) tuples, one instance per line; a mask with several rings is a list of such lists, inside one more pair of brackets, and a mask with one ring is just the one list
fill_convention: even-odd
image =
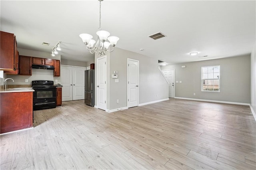
[[(201, 67), (212, 65), (220, 65), (220, 92), (202, 92)], [(250, 103), (250, 55), (166, 65), (161, 69), (175, 69), (175, 81), (182, 81), (175, 83), (175, 97)]]

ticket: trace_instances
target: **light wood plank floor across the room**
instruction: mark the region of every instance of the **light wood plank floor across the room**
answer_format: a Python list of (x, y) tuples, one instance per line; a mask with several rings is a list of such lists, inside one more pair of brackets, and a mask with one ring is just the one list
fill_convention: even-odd
[(249, 106), (170, 99), (114, 113), (80, 101), (0, 136), (0, 169), (256, 169)]

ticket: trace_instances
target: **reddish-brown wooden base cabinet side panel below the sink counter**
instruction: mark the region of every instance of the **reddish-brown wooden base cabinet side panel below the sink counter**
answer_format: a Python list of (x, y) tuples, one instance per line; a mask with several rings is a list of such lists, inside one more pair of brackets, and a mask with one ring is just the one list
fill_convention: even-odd
[(0, 93), (0, 133), (33, 127), (33, 92)]

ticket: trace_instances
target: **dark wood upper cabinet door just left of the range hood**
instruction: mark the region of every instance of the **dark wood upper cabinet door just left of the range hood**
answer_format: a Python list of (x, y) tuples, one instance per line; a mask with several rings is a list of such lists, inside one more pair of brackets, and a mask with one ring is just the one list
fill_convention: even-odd
[(32, 75), (32, 57), (20, 55), (20, 75)]

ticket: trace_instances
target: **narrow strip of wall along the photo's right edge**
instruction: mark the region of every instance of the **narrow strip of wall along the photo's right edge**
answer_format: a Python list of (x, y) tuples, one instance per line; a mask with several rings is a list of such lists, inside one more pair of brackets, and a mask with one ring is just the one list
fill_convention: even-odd
[(256, 43), (251, 53), (251, 106), (256, 114)]

